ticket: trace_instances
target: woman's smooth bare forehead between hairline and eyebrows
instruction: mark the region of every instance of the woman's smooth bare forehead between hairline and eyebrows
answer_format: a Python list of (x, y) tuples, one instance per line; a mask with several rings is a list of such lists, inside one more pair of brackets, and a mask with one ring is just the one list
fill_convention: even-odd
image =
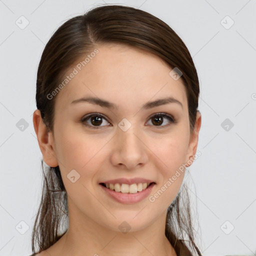
[(95, 48), (96, 54), (86, 53), (66, 71), (64, 77), (75, 74), (58, 92), (56, 103), (69, 104), (90, 95), (130, 106), (169, 95), (186, 105), (182, 80), (174, 80), (169, 75), (172, 68), (157, 55), (124, 44), (109, 43)]

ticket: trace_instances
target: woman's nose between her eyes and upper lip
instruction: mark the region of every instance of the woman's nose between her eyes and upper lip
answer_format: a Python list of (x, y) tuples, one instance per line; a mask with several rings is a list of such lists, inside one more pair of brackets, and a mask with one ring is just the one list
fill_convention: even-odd
[(126, 131), (117, 128), (116, 132), (111, 153), (112, 164), (125, 169), (134, 169), (145, 164), (148, 159), (147, 147), (135, 125), (131, 125)]

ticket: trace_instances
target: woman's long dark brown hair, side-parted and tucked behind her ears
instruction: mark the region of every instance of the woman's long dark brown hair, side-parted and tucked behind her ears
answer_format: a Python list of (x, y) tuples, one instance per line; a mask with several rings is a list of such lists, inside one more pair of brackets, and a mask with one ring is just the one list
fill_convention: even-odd
[[(160, 57), (171, 68), (177, 67), (182, 72), (180, 79), (186, 90), (190, 132), (193, 131), (199, 82), (187, 47), (162, 20), (143, 10), (121, 5), (94, 7), (83, 15), (70, 18), (47, 42), (37, 71), (36, 107), (49, 131), (53, 132), (54, 102), (57, 95), (51, 99), (47, 95), (57, 87), (75, 61), (104, 43), (123, 43), (143, 49)], [(37, 253), (54, 244), (68, 228), (67, 195), (59, 166), (44, 168), (43, 160), (41, 164), (42, 195), (32, 232), (32, 251)], [(168, 207), (165, 235), (177, 255), (192, 255), (193, 252), (201, 255), (194, 241), (186, 189), (185, 192), (185, 203), (181, 200), (180, 189)], [(187, 239), (184, 238), (184, 233)], [(38, 249), (35, 249), (36, 245)]]

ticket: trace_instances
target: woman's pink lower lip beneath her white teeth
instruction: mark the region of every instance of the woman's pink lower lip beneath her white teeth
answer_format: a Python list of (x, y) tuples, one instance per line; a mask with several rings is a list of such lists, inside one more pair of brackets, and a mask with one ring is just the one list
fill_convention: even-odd
[[(99, 184), (100, 185), (100, 184)], [(143, 200), (145, 197), (149, 195), (149, 193), (152, 190), (152, 187), (155, 185), (155, 183), (150, 184), (146, 189), (136, 192), (136, 193), (122, 193), (122, 192), (116, 192), (114, 190), (111, 190), (109, 188), (106, 188), (103, 185), (100, 185), (104, 191), (111, 196), (113, 199), (115, 199), (118, 202), (131, 204), (136, 203), (141, 200)]]

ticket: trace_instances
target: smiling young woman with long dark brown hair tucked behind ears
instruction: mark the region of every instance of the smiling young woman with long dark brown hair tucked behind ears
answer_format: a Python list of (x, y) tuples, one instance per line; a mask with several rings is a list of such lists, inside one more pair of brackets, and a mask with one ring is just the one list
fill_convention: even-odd
[(33, 124), (48, 168), (33, 252), (201, 255), (181, 203), (198, 96), (188, 49), (155, 16), (104, 5), (62, 24), (37, 72)]

